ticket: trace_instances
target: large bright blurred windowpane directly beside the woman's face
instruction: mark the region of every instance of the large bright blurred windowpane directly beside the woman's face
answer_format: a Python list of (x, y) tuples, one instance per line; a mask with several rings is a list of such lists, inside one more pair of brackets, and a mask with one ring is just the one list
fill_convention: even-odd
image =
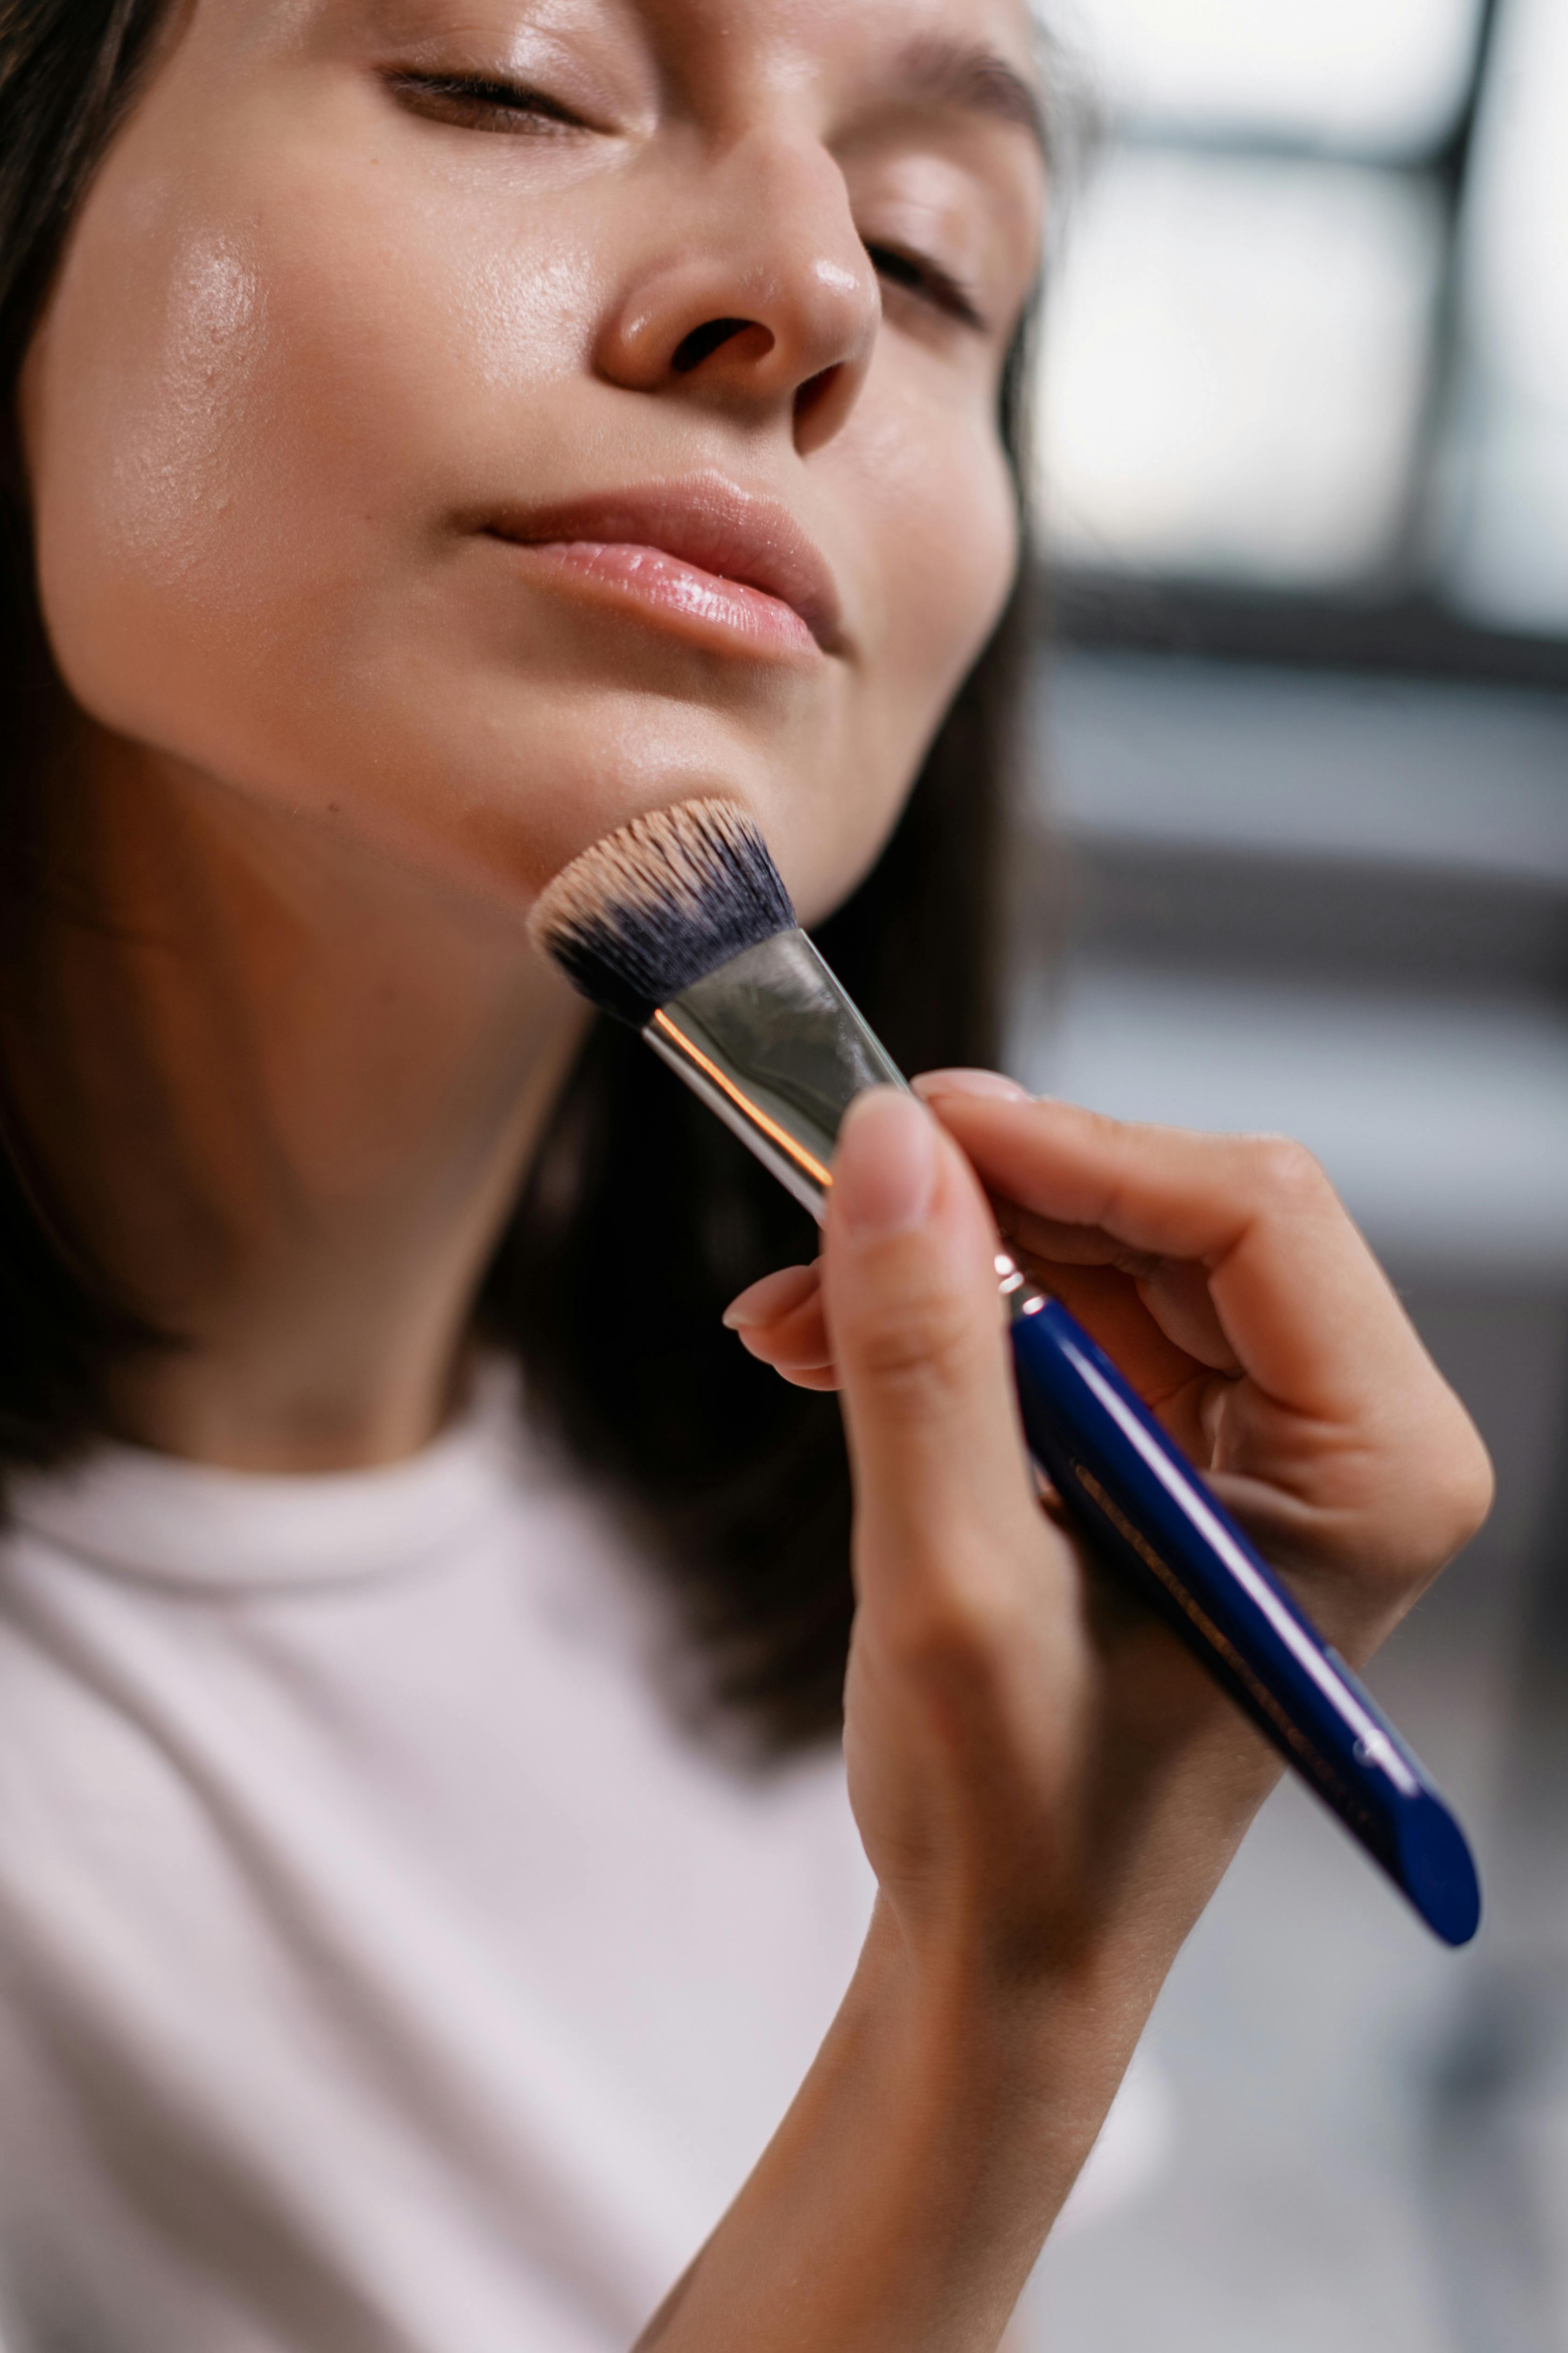
[(1044, 369), (1060, 555), (1335, 584), (1387, 562), (1441, 214), (1366, 165), (1128, 148), (1070, 233)]

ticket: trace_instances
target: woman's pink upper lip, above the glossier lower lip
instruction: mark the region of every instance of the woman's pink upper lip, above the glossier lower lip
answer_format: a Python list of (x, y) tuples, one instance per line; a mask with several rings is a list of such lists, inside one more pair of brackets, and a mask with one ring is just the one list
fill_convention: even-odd
[(489, 529), (534, 546), (592, 539), (663, 548), (677, 562), (776, 595), (802, 616), (823, 652), (837, 652), (844, 638), (839, 591), (823, 551), (788, 506), (719, 473), (595, 492), (562, 506), (508, 508)]

